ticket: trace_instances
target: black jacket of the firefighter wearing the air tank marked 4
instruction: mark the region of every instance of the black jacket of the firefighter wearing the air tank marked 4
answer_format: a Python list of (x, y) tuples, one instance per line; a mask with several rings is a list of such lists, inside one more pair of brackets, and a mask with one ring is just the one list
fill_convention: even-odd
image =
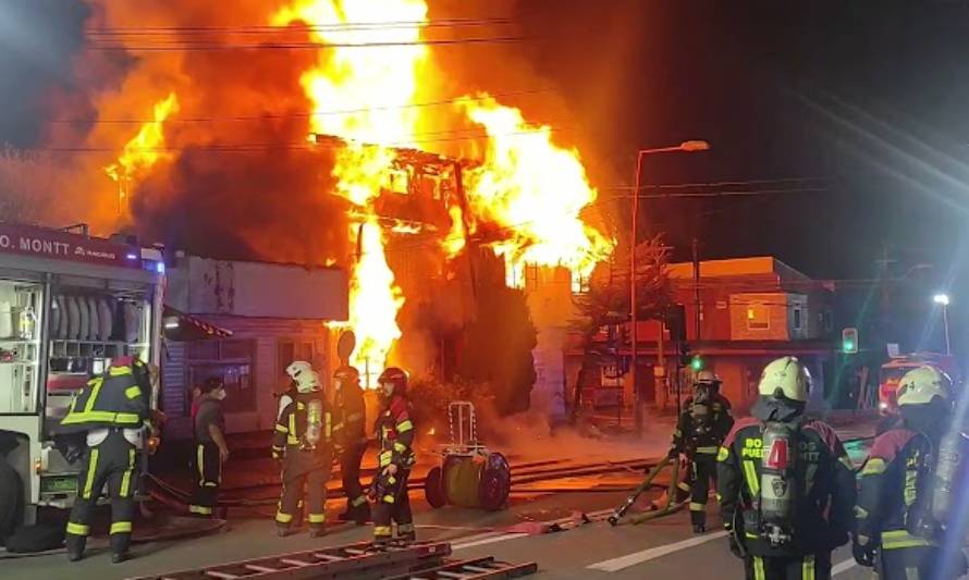
[[(737, 421), (717, 455), (717, 491), (724, 527), (734, 529), (747, 550), (759, 557), (790, 557), (830, 552), (848, 541), (855, 505), (851, 462), (834, 430), (802, 418), (797, 434), (795, 507), (790, 542), (772, 547), (759, 530), (764, 423)], [(735, 518), (735, 516), (737, 516)], [(743, 528), (743, 529), (741, 529)]]

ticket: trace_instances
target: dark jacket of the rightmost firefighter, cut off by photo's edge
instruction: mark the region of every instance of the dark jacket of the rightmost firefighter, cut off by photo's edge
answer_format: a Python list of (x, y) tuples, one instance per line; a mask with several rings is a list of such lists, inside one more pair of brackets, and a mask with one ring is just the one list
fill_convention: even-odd
[(905, 427), (891, 429), (875, 439), (861, 470), (855, 508), (859, 535), (875, 541), (881, 538), (883, 550), (935, 545), (932, 539), (907, 531), (924, 499), (931, 449), (928, 436)]

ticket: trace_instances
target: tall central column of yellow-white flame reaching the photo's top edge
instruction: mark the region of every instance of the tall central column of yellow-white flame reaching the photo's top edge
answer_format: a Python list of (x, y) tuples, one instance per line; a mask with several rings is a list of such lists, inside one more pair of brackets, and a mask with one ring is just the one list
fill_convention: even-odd
[[(322, 52), (317, 65), (300, 77), (316, 113), (310, 131), (348, 140), (336, 152), (333, 176), (336, 193), (357, 206), (351, 210), (352, 231), (359, 231), (361, 247), (349, 288), (349, 323), (358, 344), (352, 361), (364, 371), (368, 386), (376, 386), (376, 375), (401, 337), (396, 316), (404, 304), (387, 264), (372, 203), (384, 188), (390, 189), (395, 153), (387, 146), (409, 143), (415, 133), (418, 112), (407, 106), (414, 101), (427, 48), (407, 46), (420, 39), (416, 25), (367, 25), (426, 20), (424, 0), (297, 0), (272, 17), (273, 25), (309, 24), (310, 35), (323, 44), (403, 44), (385, 49), (334, 48)], [(333, 110), (352, 112), (332, 114)]]

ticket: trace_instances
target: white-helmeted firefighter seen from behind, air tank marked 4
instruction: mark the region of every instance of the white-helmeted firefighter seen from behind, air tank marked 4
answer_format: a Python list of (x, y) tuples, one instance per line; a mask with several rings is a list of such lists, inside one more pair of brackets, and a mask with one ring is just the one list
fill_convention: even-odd
[(752, 417), (717, 455), (721, 515), (749, 580), (831, 578), (848, 542), (855, 476), (842, 442), (805, 417), (811, 375), (795, 357), (768, 365)]

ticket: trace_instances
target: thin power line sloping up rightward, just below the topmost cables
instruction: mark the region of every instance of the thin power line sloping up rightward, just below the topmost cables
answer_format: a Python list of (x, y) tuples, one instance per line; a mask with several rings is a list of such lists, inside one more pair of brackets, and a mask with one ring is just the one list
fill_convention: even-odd
[[(494, 99), (504, 99), (511, 97), (523, 97), (530, 95), (541, 95), (545, 92), (559, 92), (559, 89), (555, 88), (539, 88), (539, 89), (528, 89), (528, 90), (511, 90), (505, 92), (495, 92), (489, 95), (482, 95), (478, 97), (469, 97), (469, 96), (461, 96), (453, 97), (451, 99), (441, 99), (437, 101), (427, 101), (427, 102), (412, 102), (406, 104), (387, 104), (387, 106), (372, 106), (372, 107), (360, 107), (357, 109), (342, 109), (342, 110), (330, 110), (330, 111), (312, 111), (312, 112), (293, 112), (293, 113), (266, 113), (260, 115), (237, 115), (237, 116), (195, 116), (195, 118), (180, 118), (177, 115), (172, 116), (163, 121), (164, 124), (172, 123), (218, 123), (218, 122), (240, 122), (240, 121), (262, 121), (267, 119), (308, 119), (308, 118), (317, 118), (317, 116), (336, 116), (336, 115), (348, 115), (348, 114), (357, 114), (357, 113), (366, 113), (371, 111), (392, 111), (400, 109), (416, 109), (416, 108), (425, 108), (425, 107), (441, 107), (446, 104), (457, 104), (459, 102), (475, 102), (475, 101), (484, 101), (491, 98)], [(114, 125), (142, 125), (145, 123), (158, 123), (155, 119), (98, 119), (98, 118), (85, 118), (85, 119), (52, 119), (48, 121), (49, 123), (57, 124), (75, 124), (75, 123), (97, 123), (97, 124), (114, 124)]]

